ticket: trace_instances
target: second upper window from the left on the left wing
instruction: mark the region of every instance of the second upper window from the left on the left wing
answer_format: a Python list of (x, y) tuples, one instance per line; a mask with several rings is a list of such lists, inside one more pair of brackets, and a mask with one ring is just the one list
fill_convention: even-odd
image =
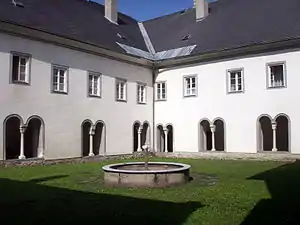
[(66, 67), (52, 67), (52, 91), (68, 93), (68, 69)]

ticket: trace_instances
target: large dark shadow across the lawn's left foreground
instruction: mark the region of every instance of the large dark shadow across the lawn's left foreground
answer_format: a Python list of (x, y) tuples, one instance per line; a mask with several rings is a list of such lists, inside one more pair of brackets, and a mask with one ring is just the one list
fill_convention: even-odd
[(181, 225), (203, 207), (199, 202), (174, 203), (37, 184), (57, 178), (0, 179), (1, 225)]

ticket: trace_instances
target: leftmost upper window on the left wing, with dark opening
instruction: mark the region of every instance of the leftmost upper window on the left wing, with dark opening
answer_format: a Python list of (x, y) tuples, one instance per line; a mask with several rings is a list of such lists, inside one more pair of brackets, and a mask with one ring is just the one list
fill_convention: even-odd
[(12, 53), (12, 82), (29, 84), (30, 56)]

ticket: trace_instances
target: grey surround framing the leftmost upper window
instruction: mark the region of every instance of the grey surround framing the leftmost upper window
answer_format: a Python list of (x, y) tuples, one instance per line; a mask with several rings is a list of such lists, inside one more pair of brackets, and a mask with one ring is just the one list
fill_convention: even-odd
[[(14, 76), (13, 76), (13, 57), (14, 56), (27, 58), (27, 60), (26, 60), (26, 73), (27, 74), (25, 74), (25, 81), (14, 80)], [(15, 51), (10, 52), (9, 81), (11, 84), (31, 85), (31, 61), (32, 61), (32, 56), (28, 53), (15, 52)], [(19, 76), (20, 76), (20, 74), (18, 74), (18, 77)]]

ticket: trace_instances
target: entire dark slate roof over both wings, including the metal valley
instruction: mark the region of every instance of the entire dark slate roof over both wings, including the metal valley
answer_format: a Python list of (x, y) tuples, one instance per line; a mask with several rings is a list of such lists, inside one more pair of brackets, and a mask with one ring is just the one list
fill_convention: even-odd
[[(104, 17), (101, 4), (87, 0), (16, 1), (24, 8), (14, 6), (12, 0), (0, 0), (0, 21), (115, 52), (151, 55), (138, 21), (119, 13), (119, 25), (115, 25)], [(199, 22), (195, 9), (144, 21), (155, 52), (177, 57), (174, 52), (184, 47), (196, 55), (300, 38), (300, 0), (218, 0), (209, 8), (209, 15)], [(187, 35), (190, 38), (182, 40)]]

